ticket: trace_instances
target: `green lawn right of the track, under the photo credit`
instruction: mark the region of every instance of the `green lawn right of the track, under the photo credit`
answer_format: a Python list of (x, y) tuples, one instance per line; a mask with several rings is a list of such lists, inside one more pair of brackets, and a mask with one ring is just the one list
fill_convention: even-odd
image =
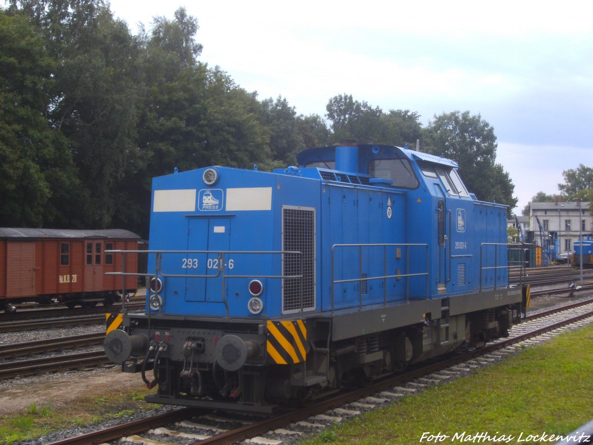
[(593, 418), (592, 343), (592, 326), (565, 333), (301, 443), (554, 443), (541, 434), (566, 436)]

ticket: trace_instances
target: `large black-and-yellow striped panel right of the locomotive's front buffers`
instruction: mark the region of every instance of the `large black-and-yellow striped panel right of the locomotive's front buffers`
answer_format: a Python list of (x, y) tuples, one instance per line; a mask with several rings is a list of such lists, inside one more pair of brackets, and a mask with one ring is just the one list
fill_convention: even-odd
[(307, 328), (302, 320), (296, 322), (267, 322), (267, 354), (275, 363), (301, 363), (307, 358), (305, 344)]

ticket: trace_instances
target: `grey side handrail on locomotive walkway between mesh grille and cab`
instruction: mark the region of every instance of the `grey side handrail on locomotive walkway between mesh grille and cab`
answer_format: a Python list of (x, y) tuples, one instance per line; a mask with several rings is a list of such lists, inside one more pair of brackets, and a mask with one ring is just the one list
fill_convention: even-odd
[[(335, 271), (335, 256), (336, 256), (336, 249), (349, 249), (349, 248), (353, 248), (353, 247), (357, 247), (358, 248), (358, 278), (347, 278), (347, 279), (336, 279), (336, 276), (334, 274)], [(364, 258), (362, 255), (362, 250), (364, 248), (371, 248), (371, 247), (382, 247), (382, 251), (383, 251), (383, 274), (382, 275), (377, 275), (377, 276), (363, 276), (363, 263), (364, 263)], [(394, 250), (394, 259), (400, 259), (401, 258), (401, 251), (399, 252), (399, 256), (398, 256), (398, 250), (397, 249), (401, 249), (402, 247), (406, 248), (406, 271), (405, 273), (401, 273), (398, 272), (396, 270), (396, 274), (388, 274), (387, 272), (387, 260), (388, 260), (388, 255), (387, 255), (387, 249), (388, 247), (393, 247)], [(419, 272), (419, 273), (410, 273), (410, 255), (409, 255), (409, 250), (410, 247), (423, 247), (426, 249), (426, 272)], [(429, 269), (429, 255), (428, 255), (428, 244), (334, 244), (333, 246), (331, 246), (331, 314), (334, 314), (335, 311), (335, 287), (336, 284), (343, 284), (343, 283), (349, 283), (349, 282), (358, 282), (358, 303), (359, 303), (359, 309), (362, 310), (363, 307), (363, 295), (365, 295), (363, 293), (363, 289), (364, 286), (362, 285), (363, 282), (365, 281), (372, 281), (372, 280), (379, 280), (382, 279), (383, 280), (383, 304), (384, 306), (387, 306), (387, 298), (388, 298), (388, 293), (387, 293), (387, 280), (391, 279), (391, 278), (395, 278), (395, 279), (401, 279), (401, 278), (410, 278), (413, 276), (426, 276), (426, 299), (428, 300), (429, 298), (429, 281), (428, 281), (428, 269)], [(410, 280), (406, 280), (406, 301), (409, 301), (409, 297), (410, 297)]]

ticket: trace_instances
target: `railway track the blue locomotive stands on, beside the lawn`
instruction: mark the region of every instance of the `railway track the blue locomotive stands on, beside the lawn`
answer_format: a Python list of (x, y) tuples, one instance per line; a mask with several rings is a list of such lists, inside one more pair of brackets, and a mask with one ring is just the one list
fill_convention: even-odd
[[(123, 440), (123, 438), (129, 441), (142, 440), (140, 437), (136, 437), (137, 434), (142, 434), (145, 437), (160, 437), (158, 440), (162, 440), (163, 442), (161, 443), (167, 443), (167, 439), (163, 438), (162, 434), (171, 434), (171, 436), (176, 437), (193, 438), (195, 440), (193, 443), (228, 444), (266, 434), (268, 431), (278, 433), (280, 431), (278, 428), (286, 428), (286, 425), (291, 425), (291, 428), (293, 425), (308, 425), (307, 428), (323, 428), (324, 425), (336, 421), (335, 419), (339, 415), (350, 415), (358, 412), (356, 411), (357, 407), (369, 407), (373, 403), (382, 403), (381, 400), (388, 402), (391, 396), (393, 398), (400, 396), (401, 394), (397, 392), (401, 392), (402, 390), (413, 392), (414, 389), (401, 387), (402, 384), (412, 384), (410, 382), (418, 379), (426, 381), (448, 379), (450, 374), (457, 372), (454, 370), (463, 370), (467, 366), (476, 366), (466, 365), (466, 363), (495, 361), (502, 357), (506, 351), (511, 351), (515, 344), (529, 341), (533, 337), (542, 336), (553, 330), (563, 329), (563, 327), (573, 323), (583, 323), (582, 320), (591, 319), (591, 317), (593, 317), (593, 300), (534, 314), (527, 317), (521, 325), (515, 326), (509, 333), (508, 338), (492, 342), (483, 348), (474, 349), (464, 354), (454, 354), (449, 358), (439, 360), (435, 363), (423, 364), (403, 374), (397, 374), (385, 379), (377, 379), (364, 388), (338, 393), (331, 398), (318, 399), (311, 406), (260, 421), (249, 422), (240, 427), (229, 428), (228, 431), (220, 427), (221, 419), (214, 418), (212, 415), (203, 415), (203, 411), (184, 408), (174, 411), (171, 414), (161, 415), (158, 418), (144, 419), (133, 422), (133, 424), (117, 425), (116, 427), (102, 430), (100, 433), (90, 433), (68, 440), (60, 440), (51, 445), (100, 443), (101, 441)], [(343, 406), (348, 406), (349, 408), (342, 408)], [(187, 420), (195, 416), (201, 416), (199, 417), (200, 423), (197, 425), (195, 422), (192, 423), (192, 421)], [(204, 424), (203, 421), (206, 421), (208, 424)], [(174, 423), (176, 427), (169, 426), (168, 428), (176, 428), (176, 431), (171, 432), (167, 428), (149, 430), (149, 428), (155, 428), (159, 425), (171, 425)], [(187, 431), (189, 428), (195, 428), (197, 432), (185, 433), (184, 431)], [(149, 431), (147, 432), (147, 430)], [(206, 431), (209, 431), (209, 433), (205, 434)], [(100, 434), (100, 436), (95, 436), (95, 434)], [(269, 438), (267, 440), (269, 444), (282, 443), (281, 440), (270, 440)]]

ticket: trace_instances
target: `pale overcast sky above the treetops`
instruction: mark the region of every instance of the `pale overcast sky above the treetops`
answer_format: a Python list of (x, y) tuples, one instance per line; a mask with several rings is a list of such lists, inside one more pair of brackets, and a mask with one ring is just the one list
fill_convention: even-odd
[(563, 170), (593, 167), (593, 2), (110, 4), (132, 33), (186, 7), (200, 26), (200, 61), (260, 99), (285, 97), (299, 114), (323, 116), (337, 94), (416, 111), (423, 125), (443, 112), (479, 113), (494, 128), (519, 213), (535, 193), (558, 193)]

